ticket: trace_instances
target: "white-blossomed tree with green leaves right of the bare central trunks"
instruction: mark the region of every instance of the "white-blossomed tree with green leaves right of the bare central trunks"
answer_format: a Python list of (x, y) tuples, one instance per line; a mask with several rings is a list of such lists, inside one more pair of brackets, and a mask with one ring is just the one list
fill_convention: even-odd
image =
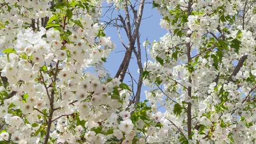
[(154, 0), (153, 7), (169, 33), (151, 44), (155, 62), (144, 76), (154, 90), (146, 96), (153, 109), (166, 108), (169, 143), (255, 144), (256, 1)]

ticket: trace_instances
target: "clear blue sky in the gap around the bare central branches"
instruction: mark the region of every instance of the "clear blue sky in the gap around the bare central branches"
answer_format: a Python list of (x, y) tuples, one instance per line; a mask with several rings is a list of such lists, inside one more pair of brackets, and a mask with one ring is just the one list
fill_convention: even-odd
[[(103, 6), (106, 6), (106, 3), (104, 2)], [(104, 8), (102, 10), (102, 14), (105, 13), (107, 9)], [(117, 17), (118, 12), (115, 10), (113, 13), (113, 18)], [(121, 13), (123, 14), (123, 13)], [(110, 17), (110, 12), (107, 13), (106, 16)], [(102, 18), (102, 20), (107, 20), (106, 16)], [(152, 4), (145, 4), (144, 13), (143, 13), (143, 19), (140, 26), (140, 42), (143, 43), (146, 41), (146, 39), (149, 42), (153, 42), (154, 40), (159, 40), (160, 37), (164, 36), (166, 34), (166, 30), (164, 28), (161, 28), (159, 23), (162, 16), (159, 15), (159, 12), (157, 9), (152, 8)], [(123, 60), (124, 54), (125, 54), (125, 48), (121, 44), (119, 37), (118, 37), (118, 31), (116, 27), (107, 27), (105, 29), (106, 35), (110, 36), (114, 44), (116, 45), (115, 50), (110, 54), (110, 56), (107, 59), (107, 63), (105, 63), (105, 68), (109, 71), (111, 77), (114, 77), (116, 72), (118, 71), (119, 65)], [(124, 31), (120, 32), (120, 35), (124, 41), (125, 44), (128, 44), (128, 38), (126, 37)], [(145, 49), (142, 47), (142, 63), (146, 61), (146, 54)], [(148, 58), (150, 59), (150, 56), (148, 55)], [(138, 80), (138, 67), (137, 67), (137, 60), (135, 55), (133, 54), (131, 62), (129, 64), (129, 72), (132, 73), (133, 77)], [(127, 84), (130, 84), (130, 77), (127, 74), (125, 77), (124, 82)], [(136, 84), (135, 84), (135, 92), (136, 92)], [(145, 93), (144, 90), (147, 90), (145, 86), (142, 87), (141, 91), (141, 101), (145, 99)]]

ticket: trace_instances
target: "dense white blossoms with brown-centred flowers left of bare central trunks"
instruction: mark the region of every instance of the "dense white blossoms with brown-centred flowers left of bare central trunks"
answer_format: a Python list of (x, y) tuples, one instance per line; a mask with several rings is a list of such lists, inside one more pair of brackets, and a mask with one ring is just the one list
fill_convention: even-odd
[[(0, 0), (0, 144), (143, 144), (144, 127), (161, 126), (107, 77), (114, 45), (97, 23), (100, 7)], [(98, 75), (84, 72), (91, 66)]]

